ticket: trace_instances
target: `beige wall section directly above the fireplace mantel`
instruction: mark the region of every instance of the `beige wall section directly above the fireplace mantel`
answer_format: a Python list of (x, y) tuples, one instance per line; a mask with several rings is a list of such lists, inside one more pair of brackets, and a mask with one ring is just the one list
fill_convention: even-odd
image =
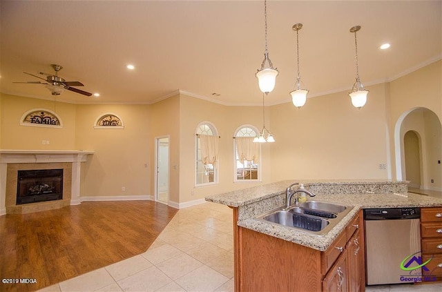
[[(75, 149), (75, 105), (5, 94), (2, 95), (2, 104), (2, 149)], [(57, 113), (63, 128), (21, 126), (21, 116), (34, 108), (44, 108)], [(49, 144), (42, 144), (42, 140), (49, 141)]]

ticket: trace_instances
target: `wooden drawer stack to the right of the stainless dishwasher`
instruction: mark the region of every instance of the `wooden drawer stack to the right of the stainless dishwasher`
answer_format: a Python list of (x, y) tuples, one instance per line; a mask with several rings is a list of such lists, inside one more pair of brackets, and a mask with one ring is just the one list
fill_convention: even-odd
[[(442, 208), (421, 208), (423, 281), (442, 280)], [(425, 269), (426, 268), (426, 269)]]

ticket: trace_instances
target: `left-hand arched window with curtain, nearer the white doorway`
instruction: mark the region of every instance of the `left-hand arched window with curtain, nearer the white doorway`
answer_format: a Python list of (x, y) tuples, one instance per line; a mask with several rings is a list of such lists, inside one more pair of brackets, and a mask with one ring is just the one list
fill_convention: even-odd
[(195, 130), (195, 186), (218, 183), (218, 131), (209, 121)]

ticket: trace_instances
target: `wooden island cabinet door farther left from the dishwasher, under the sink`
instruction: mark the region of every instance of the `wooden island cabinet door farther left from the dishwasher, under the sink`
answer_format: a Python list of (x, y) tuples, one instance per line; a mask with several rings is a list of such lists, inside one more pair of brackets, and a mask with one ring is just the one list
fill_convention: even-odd
[(323, 292), (346, 292), (347, 253), (342, 253), (323, 280)]

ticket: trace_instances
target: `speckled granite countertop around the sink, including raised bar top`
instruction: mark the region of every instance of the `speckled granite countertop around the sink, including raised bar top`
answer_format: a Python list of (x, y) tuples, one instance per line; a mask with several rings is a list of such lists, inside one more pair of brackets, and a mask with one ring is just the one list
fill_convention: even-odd
[[(206, 197), (206, 201), (224, 204), (231, 207), (236, 207), (248, 211), (260, 210), (253, 204), (266, 204), (271, 201), (271, 198), (284, 196), (285, 189), (293, 180), (287, 180), (282, 182), (275, 182), (272, 184), (265, 184), (262, 186), (256, 186), (253, 188), (247, 188), (244, 190), (231, 191), (228, 193), (222, 193), (219, 195), (211, 195)], [(363, 184), (376, 185), (376, 184), (398, 184), (401, 182), (395, 180), (380, 180), (380, 179), (364, 179), (364, 180), (334, 180), (334, 181), (321, 181), (321, 180), (298, 180), (307, 186), (321, 185), (332, 186), (354, 186)], [(402, 182), (406, 183), (406, 182)], [(308, 189), (308, 188), (307, 188)], [(347, 188), (352, 189), (352, 188)], [(316, 197), (309, 200), (330, 202), (334, 204), (340, 204), (345, 206), (352, 206), (352, 210), (345, 215), (345, 217), (334, 226), (326, 235), (318, 236), (312, 233), (302, 231), (302, 229), (290, 228), (279, 224), (273, 224), (271, 222), (258, 220), (256, 215), (242, 216), (238, 220), (238, 226), (251, 229), (260, 233), (294, 242), (295, 244), (301, 244), (303, 246), (310, 247), (319, 251), (325, 251), (334, 242), (336, 237), (345, 229), (345, 226), (353, 219), (354, 215), (361, 210), (361, 208), (405, 208), (405, 207), (431, 207), (442, 206), (442, 199), (434, 197), (428, 197), (425, 195), (417, 195), (414, 193), (316, 193)], [(253, 206), (253, 207), (251, 207)], [(276, 208), (278, 206), (273, 206)]]

